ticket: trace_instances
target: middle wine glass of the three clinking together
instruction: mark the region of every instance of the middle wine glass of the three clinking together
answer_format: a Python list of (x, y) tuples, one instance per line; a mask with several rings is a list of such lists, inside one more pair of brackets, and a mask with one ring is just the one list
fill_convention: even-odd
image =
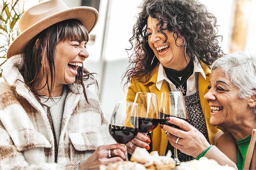
[(148, 92), (136, 93), (134, 103), (138, 104), (139, 132), (148, 134), (158, 125), (157, 95)]

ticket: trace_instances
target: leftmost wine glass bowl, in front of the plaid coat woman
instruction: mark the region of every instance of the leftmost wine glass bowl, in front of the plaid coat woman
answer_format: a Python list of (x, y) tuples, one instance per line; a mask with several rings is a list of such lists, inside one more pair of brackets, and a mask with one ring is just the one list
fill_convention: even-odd
[(138, 134), (138, 105), (116, 102), (109, 125), (110, 135), (121, 145), (127, 144)]

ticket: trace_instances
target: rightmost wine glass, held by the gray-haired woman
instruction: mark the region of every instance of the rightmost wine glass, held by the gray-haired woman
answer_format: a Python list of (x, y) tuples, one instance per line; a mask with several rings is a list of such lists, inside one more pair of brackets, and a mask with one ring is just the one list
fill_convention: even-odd
[[(188, 113), (185, 105), (184, 97), (181, 92), (164, 92), (161, 95), (159, 123), (179, 128), (179, 126), (170, 124), (166, 118), (177, 117), (188, 122)], [(180, 165), (178, 159), (177, 148), (174, 147), (174, 163)]]

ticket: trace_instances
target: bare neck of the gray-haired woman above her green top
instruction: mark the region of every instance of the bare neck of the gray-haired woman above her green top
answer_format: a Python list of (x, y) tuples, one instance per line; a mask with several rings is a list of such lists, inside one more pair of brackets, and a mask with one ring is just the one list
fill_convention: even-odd
[[(255, 117), (255, 115), (254, 115)], [(234, 136), (236, 140), (244, 139), (251, 135), (252, 130), (256, 129), (256, 120), (253, 119), (250, 121), (242, 121), (238, 125), (233, 125), (230, 128), (227, 128), (228, 131)]]

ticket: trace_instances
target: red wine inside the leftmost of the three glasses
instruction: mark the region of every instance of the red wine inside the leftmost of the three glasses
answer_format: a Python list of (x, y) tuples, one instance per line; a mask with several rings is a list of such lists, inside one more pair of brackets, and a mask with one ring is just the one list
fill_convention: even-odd
[(109, 125), (110, 135), (119, 144), (127, 144), (138, 134), (138, 128)]

